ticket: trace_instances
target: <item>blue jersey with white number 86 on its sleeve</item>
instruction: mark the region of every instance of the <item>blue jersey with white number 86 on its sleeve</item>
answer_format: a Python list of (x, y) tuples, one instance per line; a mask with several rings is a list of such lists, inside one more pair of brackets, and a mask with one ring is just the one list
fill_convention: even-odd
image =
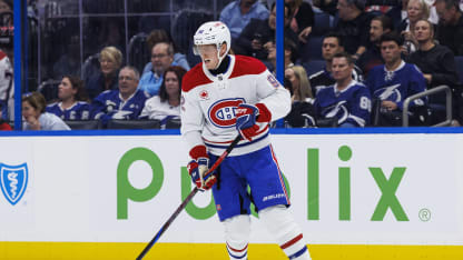
[(315, 99), (318, 118), (337, 118), (337, 123), (353, 123), (365, 127), (370, 122), (372, 102), (368, 89), (352, 80), (343, 90), (337, 83), (321, 89)]

